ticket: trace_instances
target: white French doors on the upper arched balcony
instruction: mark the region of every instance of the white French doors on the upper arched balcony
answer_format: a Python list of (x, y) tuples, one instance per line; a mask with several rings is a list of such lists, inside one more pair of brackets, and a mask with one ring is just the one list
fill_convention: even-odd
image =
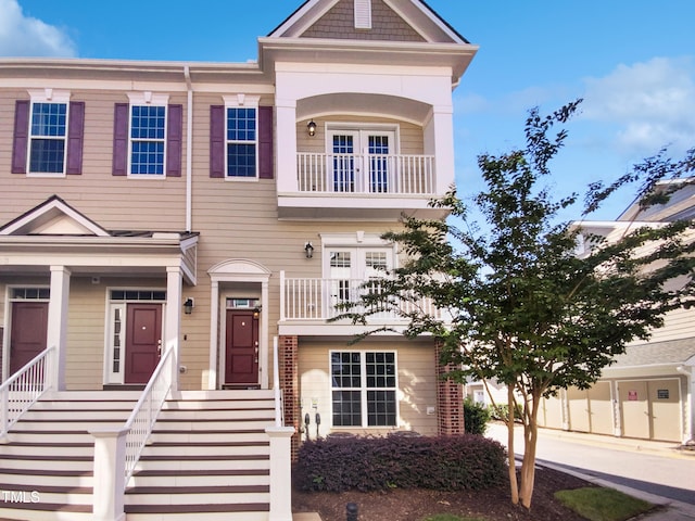
[(395, 153), (395, 132), (384, 130), (333, 130), (331, 147), (331, 181), (333, 192), (389, 192), (393, 168), (390, 155)]

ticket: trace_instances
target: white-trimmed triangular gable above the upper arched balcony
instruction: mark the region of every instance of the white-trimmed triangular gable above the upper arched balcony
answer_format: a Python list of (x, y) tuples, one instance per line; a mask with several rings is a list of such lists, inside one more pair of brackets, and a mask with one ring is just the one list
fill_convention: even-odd
[[(318, 37), (312, 34), (312, 29), (323, 18), (330, 16), (331, 11), (342, 9), (352, 12), (352, 3), (355, 0), (306, 0), (280, 25), (268, 34), (268, 38), (301, 38)], [(469, 43), (456, 29), (442, 18), (424, 0), (370, 0), (371, 9), (379, 9), (380, 13), (390, 13), (391, 17), (386, 25), (402, 23), (419, 35), (421, 41), (430, 43)], [(341, 15), (344, 21), (344, 16)], [(380, 28), (375, 24), (372, 29), (359, 29), (355, 33), (332, 33), (336, 39), (390, 39), (390, 35), (380, 35)], [(320, 34), (320, 33), (319, 33)], [(357, 36), (358, 35), (358, 36)], [(412, 38), (407, 38), (410, 39)]]

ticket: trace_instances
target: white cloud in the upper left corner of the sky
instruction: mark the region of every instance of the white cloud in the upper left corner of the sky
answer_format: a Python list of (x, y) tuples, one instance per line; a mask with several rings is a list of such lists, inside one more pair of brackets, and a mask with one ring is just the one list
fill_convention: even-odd
[(26, 16), (17, 0), (0, 0), (0, 56), (64, 56), (77, 54), (60, 28)]

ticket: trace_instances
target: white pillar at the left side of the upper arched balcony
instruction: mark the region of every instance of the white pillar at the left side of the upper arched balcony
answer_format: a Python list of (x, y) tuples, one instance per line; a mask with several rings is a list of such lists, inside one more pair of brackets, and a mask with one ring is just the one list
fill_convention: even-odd
[(296, 100), (275, 100), (278, 193), (296, 193)]

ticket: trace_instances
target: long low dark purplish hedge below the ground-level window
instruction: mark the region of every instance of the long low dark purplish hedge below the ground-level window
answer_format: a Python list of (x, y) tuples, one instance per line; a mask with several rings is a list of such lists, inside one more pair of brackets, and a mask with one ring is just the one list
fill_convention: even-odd
[(308, 441), (294, 467), (303, 491), (481, 490), (504, 476), (504, 447), (472, 434)]

